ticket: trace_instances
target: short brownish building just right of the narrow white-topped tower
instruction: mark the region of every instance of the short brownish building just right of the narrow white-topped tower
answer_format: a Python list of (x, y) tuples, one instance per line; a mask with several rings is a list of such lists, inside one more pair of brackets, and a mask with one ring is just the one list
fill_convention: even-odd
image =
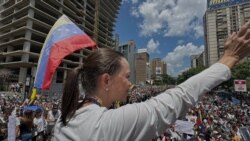
[(152, 80), (161, 80), (162, 75), (167, 74), (167, 64), (160, 58), (152, 59), (150, 64)]

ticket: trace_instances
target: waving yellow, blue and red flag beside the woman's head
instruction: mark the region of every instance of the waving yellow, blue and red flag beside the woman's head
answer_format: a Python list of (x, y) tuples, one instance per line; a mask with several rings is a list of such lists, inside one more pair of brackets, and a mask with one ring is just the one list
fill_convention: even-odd
[(62, 15), (51, 28), (43, 44), (34, 87), (49, 89), (54, 72), (62, 59), (86, 47), (95, 48), (96, 43), (67, 16)]

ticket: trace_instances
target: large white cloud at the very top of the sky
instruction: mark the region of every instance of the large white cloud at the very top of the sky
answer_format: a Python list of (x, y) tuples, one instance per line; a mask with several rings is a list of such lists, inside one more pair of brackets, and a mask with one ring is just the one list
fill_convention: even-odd
[[(141, 35), (203, 35), (205, 0), (145, 0), (131, 14), (142, 18)], [(135, 14), (136, 13), (136, 14)]]

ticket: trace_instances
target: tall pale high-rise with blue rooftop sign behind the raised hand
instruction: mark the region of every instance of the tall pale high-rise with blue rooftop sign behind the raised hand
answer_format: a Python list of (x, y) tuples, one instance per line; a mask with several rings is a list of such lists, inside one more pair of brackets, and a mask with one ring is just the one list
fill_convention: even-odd
[[(208, 0), (204, 16), (206, 66), (224, 53), (225, 39), (250, 19), (249, 0)], [(246, 58), (248, 59), (248, 58)]]

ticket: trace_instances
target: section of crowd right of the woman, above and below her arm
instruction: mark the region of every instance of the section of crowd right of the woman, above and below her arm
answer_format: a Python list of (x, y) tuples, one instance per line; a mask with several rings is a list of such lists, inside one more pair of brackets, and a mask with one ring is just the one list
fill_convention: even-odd
[[(156, 96), (164, 87), (143, 87), (131, 93), (129, 103), (137, 103)], [(152, 92), (152, 93), (150, 93)], [(154, 93), (156, 92), (156, 93)], [(233, 99), (233, 100), (232, 100)], [(161, 136), (153, 140), (162, 141), (241, 141), (240, 128), (250, 129), (250, 106), (234, 97), (219, 96), (214, 92), (207, 94), (195, 107), (189, 110), (185, 118), (179, 119), (191, 123), (189, 130), (176, 130), (176, 124), (166, 129)]]

